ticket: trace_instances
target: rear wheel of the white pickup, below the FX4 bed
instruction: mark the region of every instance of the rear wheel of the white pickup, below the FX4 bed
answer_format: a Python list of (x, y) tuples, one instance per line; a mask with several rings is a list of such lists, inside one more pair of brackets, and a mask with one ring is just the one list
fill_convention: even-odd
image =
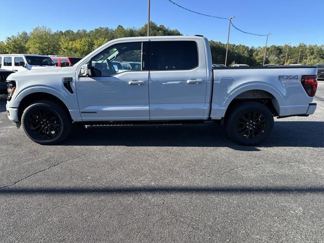
[(228, 136), (242, 145), (257, 145), (270, 136), (273, 115), (263, 104), (247, 101), (237, 104), (226, 117)]

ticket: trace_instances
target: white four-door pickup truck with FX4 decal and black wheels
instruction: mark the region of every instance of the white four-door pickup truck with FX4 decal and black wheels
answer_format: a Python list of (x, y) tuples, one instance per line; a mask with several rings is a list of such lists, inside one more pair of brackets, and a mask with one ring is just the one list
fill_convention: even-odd
[[(112, 62), (139, 65), (118, 72)], [(244, 145), (265, 140), (273, 117), (313, 114), (316, 67), (218, 67), (203, 36), (115, 39), (74, 66), (13, 73), (7, 114), (33, 141), (89, 127), (220, 121)], [(194, 139), (194, 138), (193, 138)]]

